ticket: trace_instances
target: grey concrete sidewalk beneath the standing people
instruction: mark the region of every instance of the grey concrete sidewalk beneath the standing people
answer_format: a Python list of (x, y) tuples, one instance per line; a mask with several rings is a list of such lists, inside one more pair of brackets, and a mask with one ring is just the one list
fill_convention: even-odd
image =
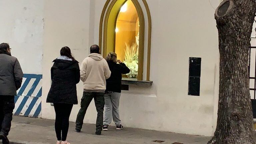
[[(84, 124), (81, 133), (75, 132), (74, 128), (75, 123), (70, 122), (68, 141), (71, 144), (206, 144), (210, 139), (134, 128), (116, 131), (115, 127), (97, 136), (94, 124)], [(56, 144), (54, 120), (14, 116), (9, 139), (12, 144)], [(155, 140), (159, 142), (153, 142)]]

